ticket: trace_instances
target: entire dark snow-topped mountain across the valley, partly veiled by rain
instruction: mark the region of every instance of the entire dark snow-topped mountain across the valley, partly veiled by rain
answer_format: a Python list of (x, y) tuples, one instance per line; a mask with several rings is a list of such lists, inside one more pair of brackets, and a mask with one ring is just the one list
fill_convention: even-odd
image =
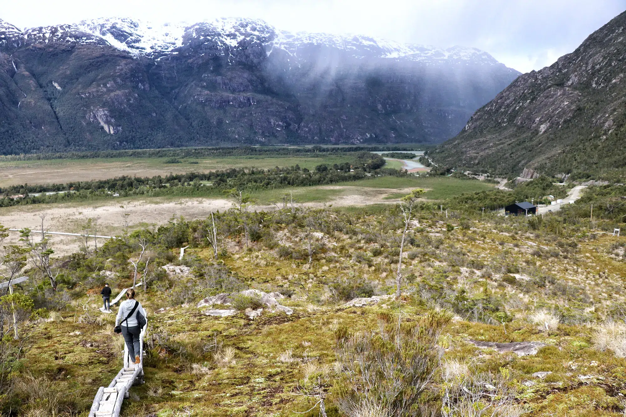
[(0, 21), (0, 152), (439, 142), (518, 73), (473, 48), (218, 19)]

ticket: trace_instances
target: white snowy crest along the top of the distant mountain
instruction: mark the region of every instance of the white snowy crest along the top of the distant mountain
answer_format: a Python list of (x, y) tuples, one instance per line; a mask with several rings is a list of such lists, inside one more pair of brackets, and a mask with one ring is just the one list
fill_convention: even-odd
[(443, 49), (419, 44), (403, 44), (363, 35), (290, 33), (277, 30), (260, 19), (222, 18), (195, 24), (152, 24), (128, 18), (101, 18), (83, 20), (75, 27), (94, 36), (100, 36), (115, 48), (148, 56), (163, 56), (189, 44), (192, 39), (205, 40), (220, 48), (235, 48), (245, 40), (263, 44), (268, 54), (281, 49), (295, 58), (298, 58), (298, 52), (303, 48), (322, 46), (345, 51), (357, 59), (404, 58), (411, 61), (423, 61), (424, 64), (435, 64), (441, 61), (498, 64), (498, 61), (490, 54), (476, 48), (453, 46)]

